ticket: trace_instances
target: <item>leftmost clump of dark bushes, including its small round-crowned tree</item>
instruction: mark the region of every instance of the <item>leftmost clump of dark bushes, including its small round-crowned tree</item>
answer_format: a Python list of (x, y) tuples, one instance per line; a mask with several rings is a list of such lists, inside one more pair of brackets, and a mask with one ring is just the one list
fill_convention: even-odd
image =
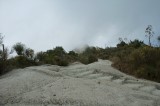
[[(2, 43), (2, 41), (0, 42)], [(25, 51), (25, 45), (22, 43), (16, 43), (13, 49), (18, 56), (10, 59), (8, 59), (9, 53), (7, 48), (3, 47), (3, 50), (0, 50), (0, 74), (4, 74), (15, 68), (37, 65), (33, 59), (34, 51), (32, 49), (26, 49)]]

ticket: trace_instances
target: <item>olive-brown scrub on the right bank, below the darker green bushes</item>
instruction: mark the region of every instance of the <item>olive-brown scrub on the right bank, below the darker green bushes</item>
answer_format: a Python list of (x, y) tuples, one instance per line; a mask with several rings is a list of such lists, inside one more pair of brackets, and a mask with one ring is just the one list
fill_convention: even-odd
[(160, 48), (142, 46), (119, 51), (112, 59), (113, 66), (136, 77), (160, 82)]

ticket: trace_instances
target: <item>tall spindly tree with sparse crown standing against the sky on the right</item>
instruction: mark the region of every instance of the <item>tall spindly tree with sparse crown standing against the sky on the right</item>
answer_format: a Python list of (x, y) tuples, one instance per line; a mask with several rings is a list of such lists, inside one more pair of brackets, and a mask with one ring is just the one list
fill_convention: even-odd
[(151, 46), (151, 37), (154, 35), (152, 25), (148, 25), (148, 27), (145, 30), (145, 33), (146, 33), (145, 36), (148, 37), (148, 40), (149, 40), (148, 41), (149, 46)]

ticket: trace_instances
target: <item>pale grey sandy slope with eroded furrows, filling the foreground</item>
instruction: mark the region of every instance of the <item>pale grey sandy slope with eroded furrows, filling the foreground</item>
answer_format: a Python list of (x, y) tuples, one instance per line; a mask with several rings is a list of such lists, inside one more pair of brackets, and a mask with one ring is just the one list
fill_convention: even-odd
[(0, 106), (160, 106), (160, 84), (136, 79), (111, 62), (43, 65), (0, 77)]

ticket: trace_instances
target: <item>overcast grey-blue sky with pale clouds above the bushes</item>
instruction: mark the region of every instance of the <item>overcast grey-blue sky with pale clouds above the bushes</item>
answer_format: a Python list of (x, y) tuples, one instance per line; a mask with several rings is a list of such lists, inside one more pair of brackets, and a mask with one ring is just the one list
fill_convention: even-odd
[(35, 51), (56, 46), (115, 46), (118, 38), (140, 39), (152, 25), (160, 35), (160, 0), (0, 0), (0, 33), (11, 47)]

